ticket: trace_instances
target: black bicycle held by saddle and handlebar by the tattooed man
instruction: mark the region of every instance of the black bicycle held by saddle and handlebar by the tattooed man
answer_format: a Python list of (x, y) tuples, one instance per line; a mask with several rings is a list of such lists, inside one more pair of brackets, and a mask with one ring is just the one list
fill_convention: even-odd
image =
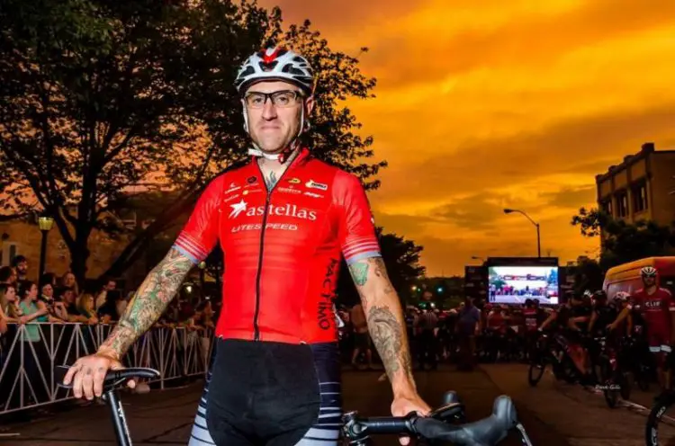
[[(58, 366), (55, 370), (58, 385), (64, 388), (72, 388), (63, 385), (68, 369), (68, 366)], [(111, 370), (105, 376), (103, 399), (111, 410), (112, 424), (120, 446), (131, 446), (132, 443), (118, 386), (129, 379), (152, 379), (158, 376), (157, 370), (145, 368)], [(367, 446), (371, 442), (371, 435), (405, 434), (424, 441), (450, 442), (456, 446), (494, 446), (506, 438), (509, 432), (517, 430), (523, 444), (532, 446), (525, 428), (518, 422), (516, 407), (511, 398), (503, 395), (497, 397), (492, 415), (469, 424), (462, 424), (464, 404), (459, 401), (455, 392), (446, 393), (444, 402), (444, 406), (438, 407), (428, 416), (409, 414), (401, 417), (365, 418), (356, 411), (348, 412), (342, 418), (344, 441), (353, 446)]]

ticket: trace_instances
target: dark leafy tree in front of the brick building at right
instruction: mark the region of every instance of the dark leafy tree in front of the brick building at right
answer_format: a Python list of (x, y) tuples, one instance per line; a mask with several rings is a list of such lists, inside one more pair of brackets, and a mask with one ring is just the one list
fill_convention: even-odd
[(579, 226), (583, 236), (603, 236), (599, 265), (605, 272), (622, 263), (667, 255), (675, 247), (675, 227), (654, 221), (640, 220), (631, 224), (612, 219), (597, 209), (581, 208), (579, 214), (572, 217), (572, 225)]

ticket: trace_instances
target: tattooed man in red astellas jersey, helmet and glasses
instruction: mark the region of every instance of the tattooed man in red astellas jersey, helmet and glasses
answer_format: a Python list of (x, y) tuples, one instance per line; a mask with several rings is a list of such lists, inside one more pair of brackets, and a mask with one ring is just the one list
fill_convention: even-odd
[(314, 107), (310, 64), (293, 51), (266, 49), (247, 59), (236, 86), (254, 143), (252, 161), (230, 168), (202, 193), (112, 335), (68, 371), (74, 395), (101, 394), (105, 372), (121, 367), (124, 352), (220, 239), (224, 300), (191, 445), (337, 444), (341, 397), (333, 299), (340, 254), (392, 383), (392, 415), (427, 414), (364, 189), (356, 176), (300, 146)]

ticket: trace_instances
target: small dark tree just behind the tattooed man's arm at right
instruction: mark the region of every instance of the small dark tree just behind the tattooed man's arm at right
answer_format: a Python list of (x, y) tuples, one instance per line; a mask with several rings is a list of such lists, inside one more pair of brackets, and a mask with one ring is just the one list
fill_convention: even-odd
[[(392, 286), (399, 297), (406, 300), (410, 298), (412, 284), (424, 275), (425, 268), (419, 265), (419, 254), (424, 248), (402, 236), (385, 234), (382, 227), (377, 227), (376, 232)], [(358, 291), (344, 260), (340, 264), (337, 293), (342, 304), (354, 305), (358, 302)]]

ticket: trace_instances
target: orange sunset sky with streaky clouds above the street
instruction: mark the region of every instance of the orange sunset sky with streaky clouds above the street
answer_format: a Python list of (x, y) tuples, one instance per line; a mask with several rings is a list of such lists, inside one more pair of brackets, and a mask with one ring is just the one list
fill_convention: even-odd
[(675, 1), (264, 0), (358, 54), (377, 97), (348, 106), (389, 162), (377, 224), (424, 245), (428, 275), (472, 255), (598, 253), (570, 225), (595, 174), (675, 148)]

